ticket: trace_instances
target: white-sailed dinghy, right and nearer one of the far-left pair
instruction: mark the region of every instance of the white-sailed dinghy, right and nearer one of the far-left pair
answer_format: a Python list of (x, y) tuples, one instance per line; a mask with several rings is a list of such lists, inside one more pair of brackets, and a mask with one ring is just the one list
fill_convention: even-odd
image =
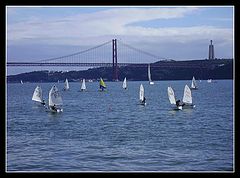
[[(51, 90), (49, 91), (49, 110), (51, 112), (63, 112), (61, 106), (63, 105), (62, 97), (58, 88), (54, 85)], [(55, 109), (54, 109), (55, 108)]]

